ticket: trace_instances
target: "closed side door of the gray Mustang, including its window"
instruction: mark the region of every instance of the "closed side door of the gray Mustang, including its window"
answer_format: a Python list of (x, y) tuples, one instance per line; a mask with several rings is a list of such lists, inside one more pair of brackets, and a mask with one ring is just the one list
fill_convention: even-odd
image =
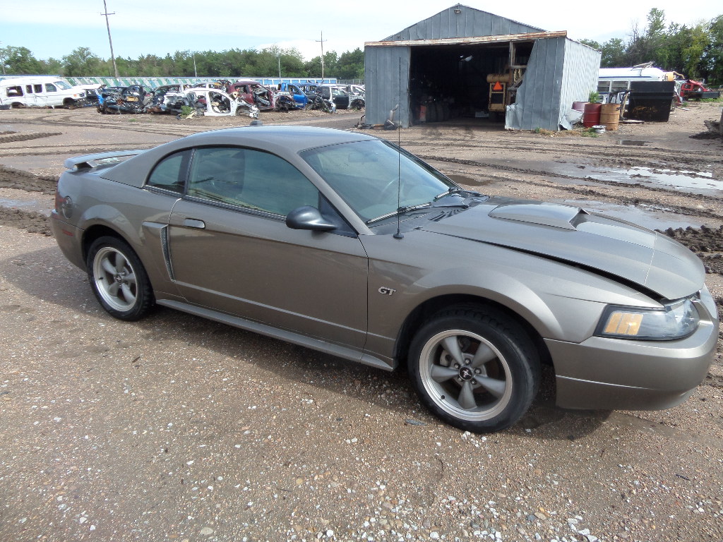
[[(322, 195), (276, 155), (194, 150), (170, 217), (176, 283), (192, 304), (361, 348), (367, 254), (356, 235), (293, 230), (286, 215)], [(332, 210), (333, 212), (333, 210)]]

